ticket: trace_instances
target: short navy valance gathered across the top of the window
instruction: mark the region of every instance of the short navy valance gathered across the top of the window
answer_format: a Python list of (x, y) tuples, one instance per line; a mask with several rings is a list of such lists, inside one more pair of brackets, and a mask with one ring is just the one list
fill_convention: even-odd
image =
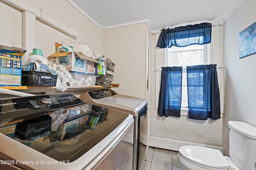
[(181, 26), (176, 28), (162, 29), (158, 39), (157, 47), (186, 47), (192, 44), (206, 44), (211, 42), (212, 24), (201, 23), (195, 25)]

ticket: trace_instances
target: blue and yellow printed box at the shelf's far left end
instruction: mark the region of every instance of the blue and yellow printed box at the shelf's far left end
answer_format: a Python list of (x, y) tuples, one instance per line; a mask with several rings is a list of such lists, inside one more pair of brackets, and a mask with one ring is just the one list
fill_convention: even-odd
[(26, 50), (0, 45), (0, 86), (20, 86), (22, 56)]

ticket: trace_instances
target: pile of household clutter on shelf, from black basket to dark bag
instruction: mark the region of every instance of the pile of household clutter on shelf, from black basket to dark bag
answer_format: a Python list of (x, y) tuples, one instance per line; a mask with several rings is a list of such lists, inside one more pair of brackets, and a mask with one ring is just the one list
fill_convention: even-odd
[(22, 64), (21, 85), (54, 86), (62, 92), (74, 85), (110, 87), (115, 64), (109, 58), (93, 53), (88, 45), (68, 40), (55, 45), (56, 52), (47, 58), (42, 49), (33, 49)]

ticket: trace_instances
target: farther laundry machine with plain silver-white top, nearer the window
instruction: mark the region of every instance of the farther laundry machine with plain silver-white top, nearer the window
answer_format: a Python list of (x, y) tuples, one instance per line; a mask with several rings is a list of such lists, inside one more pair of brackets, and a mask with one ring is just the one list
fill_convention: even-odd
[(140, 117), (146, 115), (147, 101), (137, 97), (120, 95), (111, 89), (86, 91), (80, 95), (86, 103), (129, 113), (134, 117), (133, 170), (140, 168)]

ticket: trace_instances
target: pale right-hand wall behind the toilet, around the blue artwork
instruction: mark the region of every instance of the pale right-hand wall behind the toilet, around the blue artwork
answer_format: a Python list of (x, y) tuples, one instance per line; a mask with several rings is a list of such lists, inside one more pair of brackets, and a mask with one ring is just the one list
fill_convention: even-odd
[(222, 145), (228, 155), (228, 121), (244, 121), (256, 127), (256, 54), (239, 59), (238, 34), (256, 22), (255, 0), (245, 0), (224, 25), (225, 99)]

